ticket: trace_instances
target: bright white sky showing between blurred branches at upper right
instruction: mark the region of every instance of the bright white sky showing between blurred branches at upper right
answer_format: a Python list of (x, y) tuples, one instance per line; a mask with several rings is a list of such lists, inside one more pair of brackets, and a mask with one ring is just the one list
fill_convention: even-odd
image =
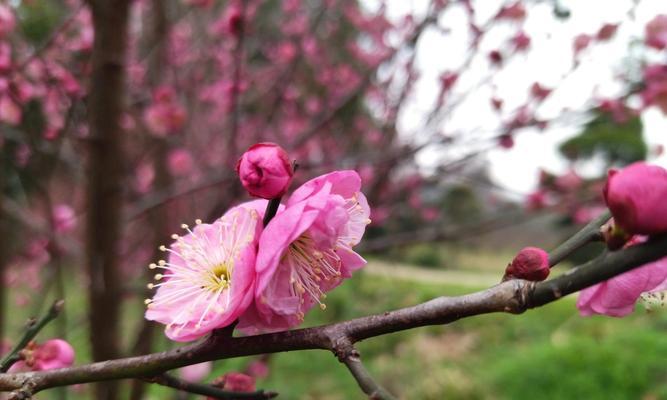
[[(373, 7), (373, 0), (367, 0)], [(480, 19), (495, 14), (502, 1), (478, 1), (484, 7), (477, 7)], [(423, 15), (428, 0), (389, 0), (388, 12), (391, 18), (402, 18), (406, 13), (416, 11)], [(641, 0), (635, 10), (634, 20), (628, 16), (631, 0), (588, 0), (562, 1), (561, 4), (571, 10), (571, 17), (565, 21), (553, 17), (552, 2), (540, 4), (527, 3), (528, 18), (524, 30), (531, 37), (531, 50), (524, 56), (519, 55), (509, 63), (502, 75), (494, 80), (496, 94), (503, 98), (509, 110), (524, 104), (528, 87), (535, 81), (545, 86), (557, 86), (557, 91), (538, 109), (538, 116), (554, 117), (562, 114), (563, 107), (573, 109), (585, 106), (591, 93), (600, 97), (614, 96), (620, 86), (614, 83), (614, 75), (624, 72), (627, 63), (622, 63), (628, 56), (630, 42), (642, 36), (644, 25), (659, 13), (667, 13), (665, 0)], [(420, 126), (424, 112), (430, 109), (437, 96), (438, 77), (445, 70), (456, 69), (466, 55), (465, 14), (447, 13), (439, 21), (440, 26), (451, 29), (447, 35), (435, 31), (422, 36), (418, 46), (417, 65), (421, 79), (416, 95), (399, 119), (399, 131), (414, 134)], [(580, 33), (595, 34), (604, 23), (622, 23), (616, 36), (609, 43), (596, 45), (585, 51), (582, 65), (574, 74), (563, 76), (572, 65), (572, 39)], [(492, 35), (482, 42), (482, 54), (497, 48), (506, 40), (512, 26), (499, 28), (500, 34)], [(490, 35), (491, 36), (491, 35)], [(656, 54), (657, 55), (657, 54)], [(457, 83), (465, 91), (467, 84), (473, 84), (484, 76), (484, 62), (473, 66), (465, 80)], [(455, 89), (456, 91), (456, 89)], [(489, 107), (490, 88), (482, 89), (478, 94), (468, 97), (452, 118), (447, 120), (448, 130), (474, 128), (474, 122), (489, 121), (490, 126), (497, 126), (497, 116)], [(659, 110), (651, 109), (642, 115), (644, 135), (650, 147), (656, 144), (667, 145), (667, 117)], [(545, 168), (552, 172), (562, 172), (567, 163), (557, 153), (557, 146), (577, 133), (577, 127), (560, 126), (550, 128), (544, 133), (524, 130), (516, 136), (515, 146), (511, 150), (492, 150), (487, 159), (491, 164), (493, 179), (512, 192), (528, 193), (535, 188), (538, 171)], [(442, 150), (427, 150), (420, 154), (420, 162), (426, 168), (434, 159), (442, 157)], [(660, 158), (651, 158), (650, 162), (667, 166), (667, 154)], [(599, 164), (578, 165), (578, 171), (584, 175), (599, 175)]]

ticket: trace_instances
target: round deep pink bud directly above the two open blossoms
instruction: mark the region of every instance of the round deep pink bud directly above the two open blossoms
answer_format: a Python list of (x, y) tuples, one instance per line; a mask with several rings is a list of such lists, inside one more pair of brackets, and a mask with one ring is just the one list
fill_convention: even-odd
[(276, 199), (287, 192), (294, 169), (287, 152), (275, 143), (257, 143), (236, 164), (243, 187), (263, 199)]

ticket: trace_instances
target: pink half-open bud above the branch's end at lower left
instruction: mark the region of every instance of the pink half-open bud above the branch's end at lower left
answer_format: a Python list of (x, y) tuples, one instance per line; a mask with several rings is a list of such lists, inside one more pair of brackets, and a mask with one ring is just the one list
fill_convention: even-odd
[(30, 342), (19, 355), (21, 360), (14, 363), (9, 372), (46, 371), (74, 363), (74, 349), (62, 339), (47, 340), (43, 344)]

